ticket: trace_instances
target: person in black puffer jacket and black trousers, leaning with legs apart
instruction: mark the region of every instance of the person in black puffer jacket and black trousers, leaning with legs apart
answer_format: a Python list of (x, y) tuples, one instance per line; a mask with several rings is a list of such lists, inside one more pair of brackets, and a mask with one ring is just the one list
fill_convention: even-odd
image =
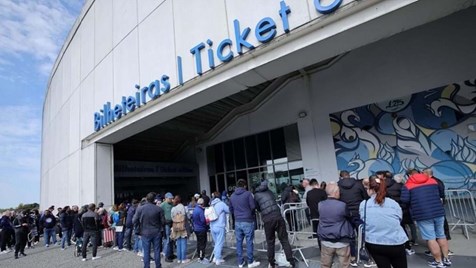
[(286, 223), (283, 216), (281, 216), (281, 210), (276, 203), (273, 192), (268, 189), (268, 181), (265, 180), (261, 182), (260, 186), (256, 188), (254, 199), (256, 209), (261, 212), (261, 218), (264, 223), (266, 244), (268, 244), (269, 267), (276, 267), (276, 261), (274, 259), (275, 233), (278, 233), (278, 239), (283, 247), (286, 260), (292, 267), (296, 267), (296, 261), (293, 258), (288, 233), (286, 232)]

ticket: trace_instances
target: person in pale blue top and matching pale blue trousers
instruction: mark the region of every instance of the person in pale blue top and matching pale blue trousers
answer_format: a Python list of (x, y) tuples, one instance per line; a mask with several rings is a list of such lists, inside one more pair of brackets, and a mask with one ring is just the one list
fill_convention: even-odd
[(214, 262), (216, 265), (220, 265), (225, 262), (221, 252), (225, 243), (226, 214), (230, 213), (230, 209), (225, 202), (220, 200), (219, 192), (214, 192), (212, 198), (211, 206), (215, 209), (218, 218), (210, 222), (210, 231), (215, 242), (215, 247), (213, 248)]

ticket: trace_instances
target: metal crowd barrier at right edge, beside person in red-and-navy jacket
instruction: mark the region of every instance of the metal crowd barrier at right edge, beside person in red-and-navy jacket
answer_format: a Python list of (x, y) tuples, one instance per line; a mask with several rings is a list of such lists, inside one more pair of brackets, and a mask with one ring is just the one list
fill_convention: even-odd
[(452, 226), (451, 231), (456, 227), (461, 227), (461, 230), (469, 239), (468, 229), (474, 231), (476, 225), (476, 204), (473, 194), (469, 190), (446, 190), (446, 219), (448, 225)]

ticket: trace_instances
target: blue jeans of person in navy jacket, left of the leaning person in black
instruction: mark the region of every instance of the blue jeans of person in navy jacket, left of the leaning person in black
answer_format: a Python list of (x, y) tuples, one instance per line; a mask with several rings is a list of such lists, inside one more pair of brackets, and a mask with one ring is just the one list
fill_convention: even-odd
[(236, 236), (236, 255), (238, 264), (244, 262), (243, 259), (243, 239), (246, 237), (246, 255), (248, 265), (253, 263), (253, 239), (255, 236), (255, 227), (253, 222), (235, 222)]

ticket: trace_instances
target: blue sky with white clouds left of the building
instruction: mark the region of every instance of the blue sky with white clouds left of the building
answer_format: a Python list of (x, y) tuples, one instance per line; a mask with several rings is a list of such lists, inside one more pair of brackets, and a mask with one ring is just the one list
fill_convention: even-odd
[(40, 202), (48, 77), (85, 0), (0, 0), (0, 208)]

